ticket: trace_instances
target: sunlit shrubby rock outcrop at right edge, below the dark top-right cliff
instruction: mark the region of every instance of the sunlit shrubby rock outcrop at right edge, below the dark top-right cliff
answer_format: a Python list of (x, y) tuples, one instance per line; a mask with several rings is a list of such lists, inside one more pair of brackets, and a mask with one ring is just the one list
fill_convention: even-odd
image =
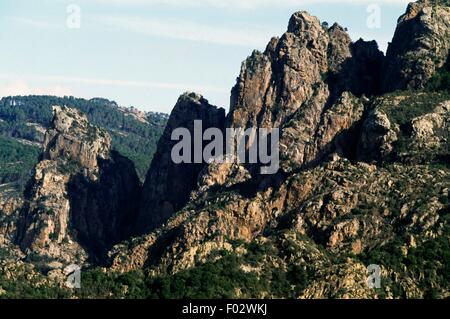
[(375, 99), (362, 125), (357, 159), (445, 164), (449, 100), (441, 92), (399, 92)]

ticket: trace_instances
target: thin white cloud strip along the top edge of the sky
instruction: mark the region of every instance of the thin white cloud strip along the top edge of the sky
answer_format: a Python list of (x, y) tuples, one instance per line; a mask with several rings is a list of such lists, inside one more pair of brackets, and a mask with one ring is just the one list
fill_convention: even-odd
[(257, 9), (268, 7), (299, 7), (307, 4), (407, 4), (411, 0), (95, 0), (102, 4), (147, 5), (176, 7), (215, 7), (227, 9)]

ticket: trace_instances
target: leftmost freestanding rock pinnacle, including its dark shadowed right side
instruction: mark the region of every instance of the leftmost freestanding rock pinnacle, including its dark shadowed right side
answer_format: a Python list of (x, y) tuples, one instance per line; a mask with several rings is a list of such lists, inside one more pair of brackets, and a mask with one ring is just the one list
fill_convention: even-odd
[(134, 165), (111, 152), (108, 133), (79, 111), (55, 107), (26, 191), (17, 243), (46, 266), (101, 261), (129, 235), (139, 187)]

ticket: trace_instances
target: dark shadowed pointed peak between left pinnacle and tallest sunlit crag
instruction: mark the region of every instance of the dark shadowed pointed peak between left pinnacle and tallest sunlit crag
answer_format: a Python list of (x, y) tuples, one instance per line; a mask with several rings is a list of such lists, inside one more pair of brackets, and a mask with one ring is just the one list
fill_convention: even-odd
[[(194, 139), (195, 120), (202, 121), (203, 131), (208, 128), (223, 131), (225, 110), (210, 105), (195, 93), (186, 93), (179, 98), (158, 143), (145, 180), (137, 223), (138, 232), (161, 226), (187, 203), (191, 191), (197, 186), (197, 178), (205, 167), (203, 160), (197, 164), (176, 164), (171, 158), (172, 148), (179, 142), (172, 141), (172, 132), (177, 128), (186, 128)], [(193, 154), (192, 151), (192, 156)]]

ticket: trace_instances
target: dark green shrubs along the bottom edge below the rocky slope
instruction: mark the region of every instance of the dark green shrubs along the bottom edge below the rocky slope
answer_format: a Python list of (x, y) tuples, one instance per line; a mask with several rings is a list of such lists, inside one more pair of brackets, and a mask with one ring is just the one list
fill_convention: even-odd
[[(55, 286), (36, 288), (33, 282), (2, 277), (3, 298), (292, 298), (306, 287), (310, 274), (292, 264), (288, 269), (265, 267), (265, 258), (276, 254), (270, 245), (246, 245), (247, 253), (217, 251), (208, 261), (175, 275), (151, 276), (150, 270), (127, 273), (85, 269), (81, 289), (69, 291)], [(244, 271), (243, 265), (261, 271)]]

